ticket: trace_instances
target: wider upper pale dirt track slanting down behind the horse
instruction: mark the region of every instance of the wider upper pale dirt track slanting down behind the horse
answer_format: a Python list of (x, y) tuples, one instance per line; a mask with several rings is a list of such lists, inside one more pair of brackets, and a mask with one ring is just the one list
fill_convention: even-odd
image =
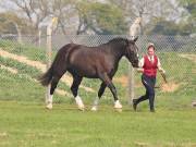
[[(26, 57), (13, 54), (13, 53), (10, 53), (10, 52), (4, 51), (2, 49), (0, 49), (0, 56), (3, 57), (3, 58), (11, 58), (11, 59), (16, 60), (19, 62), (22, 62), (22, 63), (25, 63), (27, 65), (34, 66), (34, 68), (40, 70), (41, 72), (46, 72), (46, 69), (47, 69), (46, 64), (44, 64), (44, 63), (41, 63), (39, 61), (33, 61), (33, 60), (27, 59)], [(73, 82), (73, 78), (71, 76), (63, 75), (61, 81), (63, 83), (65, 83), (68, 86), (71, 86), (72, 82)], [(86, 87), (84, 85), (81, 85), (79, 87), (84, 88), (87, 91), (91, 91), (91, 93), (95, 91), (93, 88)]]

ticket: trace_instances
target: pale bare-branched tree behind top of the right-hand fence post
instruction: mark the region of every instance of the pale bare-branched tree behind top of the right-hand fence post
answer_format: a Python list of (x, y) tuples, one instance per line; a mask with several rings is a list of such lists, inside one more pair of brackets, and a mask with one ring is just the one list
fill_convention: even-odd
[(149, 33), (159, 19), (174, 21), (180, 16), (177, 4), (171, 0), (108, 0), (117, 4), (126, 14), (130, 25), (135, 17), (142, 17), (142, 34)]

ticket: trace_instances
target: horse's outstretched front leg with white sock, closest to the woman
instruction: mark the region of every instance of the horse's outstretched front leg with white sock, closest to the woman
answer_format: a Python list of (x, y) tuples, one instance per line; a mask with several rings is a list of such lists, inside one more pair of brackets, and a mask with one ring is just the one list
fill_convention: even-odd
[(110, 91), (113, 95), (114, 99), (114, 108), (115, 109), (121, 109), (122, 105), (119, 101), (118, 95), (117, 95), (117, 89), (115, 86), (113, 85), (111, 78), (107, 75), (107, 73), (100, 74), (100, 78), (103, 81), (103, 83), (109, 87)]

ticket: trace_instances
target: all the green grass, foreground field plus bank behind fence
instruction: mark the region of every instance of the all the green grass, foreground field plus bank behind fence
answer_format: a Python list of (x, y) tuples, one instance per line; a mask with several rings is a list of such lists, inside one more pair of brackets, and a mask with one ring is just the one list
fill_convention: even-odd
[[(0, 41), (0, 48), (30, 60), (45, 62), (45, 52), (30, 46)], [(72, 97), (54, 95), (53, 110), (45, 109), (45, 88), (35, 81), (41, 71), (16, 60), (0, 57), (0, 64), (17, 70), (14, 74), (0, 69), (0, 147), (196, 147), (196, 64), (176, 52), (159, 53), (168, 79), (179, 87), (173, 91), (156, 91), (156, 113), (148, 101), (134, 112), (127, 105), (127, 88), (114, 82), (123, 111), (113, 110), (107, 89), (98, 112), (89, 111), (100, 82), (84, 79), (95, 89), (79, 89), (88, 110), (76, 109)], [(174, 64), (171, 64), (174, 63)], [(127, 75), (122, 60), (117, 77)], [(140, 75), (135, 75), (136, 96), (144, 93)], [(158, 85), (161, 77), (158, 76)], [(64, 83), (58, 86), (70, 93)], [(170, 87), (169, 87), (170, 88)]]

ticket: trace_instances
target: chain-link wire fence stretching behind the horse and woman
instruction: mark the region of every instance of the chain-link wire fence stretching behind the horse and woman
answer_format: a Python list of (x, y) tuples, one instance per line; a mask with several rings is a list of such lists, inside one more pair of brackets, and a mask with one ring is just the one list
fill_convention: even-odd
[[(69, 42), (86, 45), (86, 46), (99, 46), (106, 44), (112, 38), (115, 37), (125, 37), (130, 38), (126, 35), (52, 35), (51, 36), (51, 48), (53, 54), (64, 45)], [(158, 87), (160, 87), (160, 95), (163, 94), (183, 94), (185, 96), (189, 94), (195, 94), (196, 91), (196, 37), (189, 36), (139, 36), (136, 42), (139, 48), (140, 57), (146, 53), (146, 48), (148, 42), (154, 42), (156, 46), (156, 52), (161, 60), (162, 68), (167, 71), (167, 78), (169, 84), (166, 85), (162, 83), (160, 76), (158, 76)], [(37, 74), (46, 71), (47, 64), (47, 36), (30, 36), (23, 35), (19, 38), (15, 35), (1, 35), (0, 37), (0, 50), (1, 50), (1, 70), (2, 68), (7, 69), (10, 72), (13, 72), (14, 69), (25, 74), (33, 81)], [(23, 59), (25, 58), (26, 59)], [(7, 61), (11, 60), (11, 61)], [(23, 59), (23, 60), (22, 60)], [(13, 65), (13, 61), (23, 63), (23, 65)], [(20, 66), (20, 68), (19, 68)], [(35, 68), (35, 69), (33, 69)], [(13, 70), (13, 71), (12, 71)], [(33, 71), (32, 71), (33, 70)], [(131, 73), (132, 72), (132, 73)], [(70, 75), (69, 75), (70, 76)], [(63, 95), (70, 97), (69, 86), (72, 83), (72, 78), (66, 76), (64, 79), (65, 90), (58, 90)], [(134, 81), (133, 81), (134, 79)], [(94, 79), (91, 79), (94, 81)], [(114, 83), (120, 90), (120, 97), (124, 97), (130, 100), (130, 97), (137, 97), (144, 91), (144, 87), (140, 83), (140, 75), (134, 72), (130, 68), (128, 61), (123, 58), (120, 63), (119, 72), (114, 76)], [(98, 89), (99, 84), (90, 84), (88, 79), (83, 83), (82, 89), (84, 91), (95, 91)], [(7, 86), (8, 87), (8, 86)], [(63, 86), (61, 86), (63, 87)], [(60, 89), (62, 89), (60, 87)], [(134, 88), (133, 88), (134, 87)], [(134, 94), (134, 95), (131, 95)], [(85, 94), (85, 96), (88, 95)], [(110, 94), (108, 94), (110, 95)], [(108, 96), (106, 95), (106, 97)]]

